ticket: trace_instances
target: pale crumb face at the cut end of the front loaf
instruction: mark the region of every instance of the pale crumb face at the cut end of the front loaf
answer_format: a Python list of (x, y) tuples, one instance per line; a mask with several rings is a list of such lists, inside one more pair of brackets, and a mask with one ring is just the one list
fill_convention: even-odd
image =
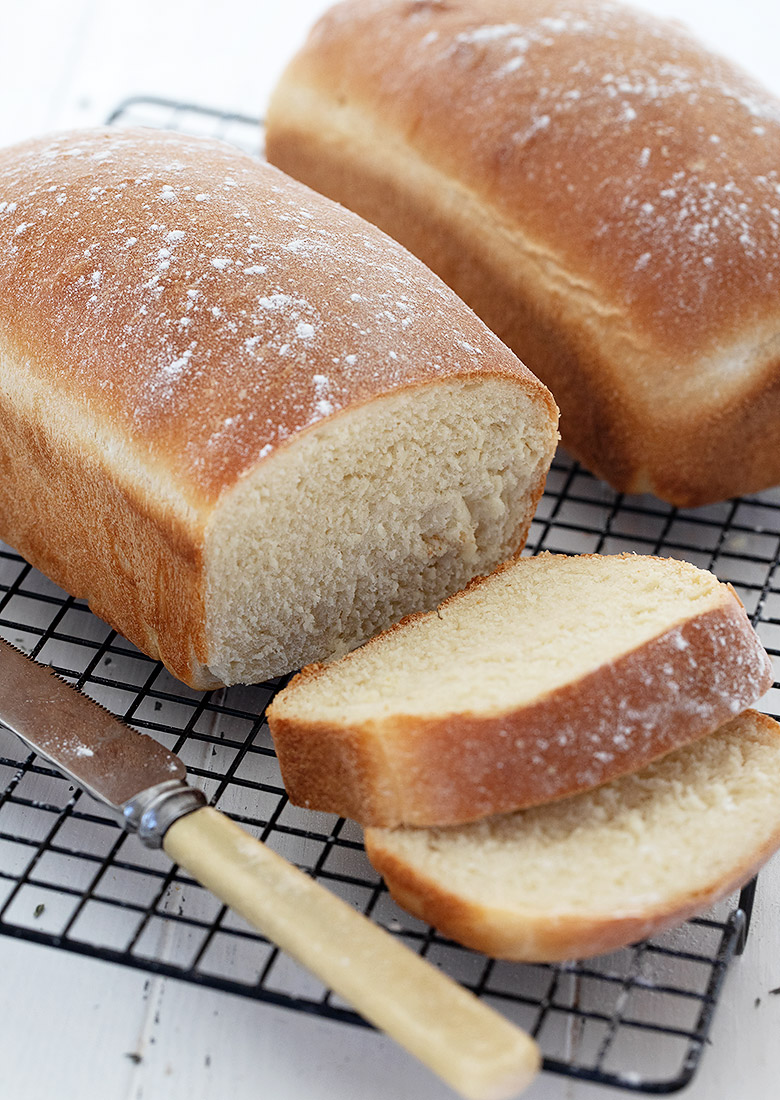
[(257, 682), (340, 657), (490, 572), (525, 542), (556, 441), (540, 387), (483, 377), (409, 387), (281, 448), (207, 532), (210, 671)]

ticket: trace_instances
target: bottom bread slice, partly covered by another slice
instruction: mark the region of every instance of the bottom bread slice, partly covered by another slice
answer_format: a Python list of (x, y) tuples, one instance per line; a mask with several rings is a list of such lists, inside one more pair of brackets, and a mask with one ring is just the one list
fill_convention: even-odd
[(747, 711), (595, 791), (452, 828), (365, 831), (404, 909), (501, 958), (616, 950), (707, 910), (780, 847), (780, 727)]

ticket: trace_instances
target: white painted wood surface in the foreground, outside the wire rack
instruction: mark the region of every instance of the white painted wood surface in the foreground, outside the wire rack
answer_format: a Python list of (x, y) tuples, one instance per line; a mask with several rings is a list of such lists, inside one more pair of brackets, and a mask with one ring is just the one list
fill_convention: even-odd
[[(732, 966), (713, 1044), (686, 1100), (773, 1094), (780, 997), (769, 991), (780, 986), (779, 898), (776, 860), (760, 882), (748, 950)], [(2, 938), (0, 974), (9, 1097), (211, 1100), (217, 1084), (233, 1100), (259, 1091), (274, 1100), (451, 1097), (393, 1043), (363, 1028)], [(545, 1075), (527, 1096), (601, 1100), (616, 1093)]]

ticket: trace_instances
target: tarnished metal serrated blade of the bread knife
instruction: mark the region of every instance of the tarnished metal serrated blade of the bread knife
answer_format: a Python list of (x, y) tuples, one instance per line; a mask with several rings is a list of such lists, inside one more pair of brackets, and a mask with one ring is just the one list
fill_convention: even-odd
[(120, 815), (150, 788), (182, 782), (177, 756), (0, 639), (0, 722)]

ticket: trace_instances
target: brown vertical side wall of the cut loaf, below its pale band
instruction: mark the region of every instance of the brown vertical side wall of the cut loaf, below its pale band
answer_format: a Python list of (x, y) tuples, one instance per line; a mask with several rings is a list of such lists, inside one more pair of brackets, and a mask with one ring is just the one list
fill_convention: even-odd
[(0, 455), (3, 539), (180, 679), (216, 686), (197, 529), (133, 493), (99, 453), (4, 403)]

